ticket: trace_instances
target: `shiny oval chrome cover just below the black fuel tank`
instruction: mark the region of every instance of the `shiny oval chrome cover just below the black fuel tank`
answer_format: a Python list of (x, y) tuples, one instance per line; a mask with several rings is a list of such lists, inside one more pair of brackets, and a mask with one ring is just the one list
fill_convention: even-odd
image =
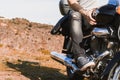
[(95, 36), (107, 36), (110, 33), (107, 28), (94, 28), (92, 34)]

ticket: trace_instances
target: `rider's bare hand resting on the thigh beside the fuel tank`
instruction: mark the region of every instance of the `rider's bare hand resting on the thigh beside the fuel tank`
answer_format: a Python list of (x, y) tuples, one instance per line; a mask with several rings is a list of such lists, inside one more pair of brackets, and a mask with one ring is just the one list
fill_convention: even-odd
[(85, 17), (85, 19), (91, 24), (91, 25), (95, 25), (96, 24), (96, 20), (92, 18), (92, 12), (93, 10), (80, 10), (80, 13)]

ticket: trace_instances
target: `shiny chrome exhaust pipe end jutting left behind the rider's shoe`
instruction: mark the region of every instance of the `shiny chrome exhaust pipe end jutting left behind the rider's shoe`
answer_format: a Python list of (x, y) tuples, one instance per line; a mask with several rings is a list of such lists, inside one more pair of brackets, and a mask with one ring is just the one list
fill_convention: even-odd
[(63, 65), (71, 67), (73, 71), (79, 70), (79, 68), (72, 62), (72, 58), (67, 57), (66, 54), (51, 52), (51, 57)]

